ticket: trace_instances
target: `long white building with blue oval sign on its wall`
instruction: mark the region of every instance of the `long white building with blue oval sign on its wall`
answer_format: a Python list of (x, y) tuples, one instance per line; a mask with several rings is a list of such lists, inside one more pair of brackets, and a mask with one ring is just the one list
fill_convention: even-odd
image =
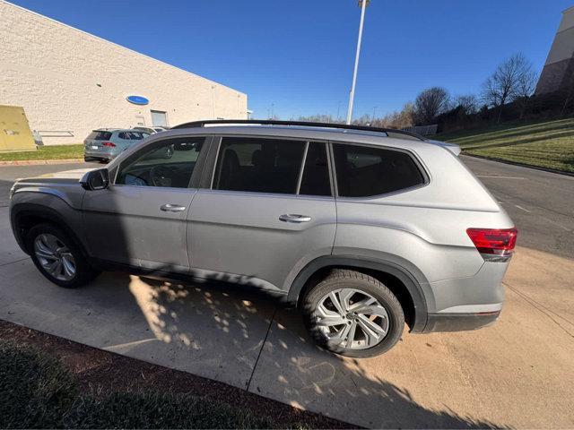
[(82, 142), (100, 127), (248, 116), (238, 90), (4, 0), (0, 53), (0, 105), (24, 107), (46, 144)]

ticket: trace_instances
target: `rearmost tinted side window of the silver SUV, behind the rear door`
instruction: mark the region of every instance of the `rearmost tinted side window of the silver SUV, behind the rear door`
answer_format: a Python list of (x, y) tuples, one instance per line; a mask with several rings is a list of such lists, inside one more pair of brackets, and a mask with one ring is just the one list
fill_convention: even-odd
[(367, 197), (424, 184), (421, 170), (405, 152), (338, 143), (333, 150), (342, 197)]

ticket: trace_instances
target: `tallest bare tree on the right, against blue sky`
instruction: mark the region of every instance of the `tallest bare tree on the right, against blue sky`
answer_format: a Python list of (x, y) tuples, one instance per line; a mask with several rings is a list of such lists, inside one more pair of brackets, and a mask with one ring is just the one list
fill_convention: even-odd
[(484, 102), (499, 108), (497, 122), (500, 122), (502, 107), (506, 103), (532, 94), (534, 76), (532, 64), (522, 53), (517, 53), (500, 64), (483, 83)]

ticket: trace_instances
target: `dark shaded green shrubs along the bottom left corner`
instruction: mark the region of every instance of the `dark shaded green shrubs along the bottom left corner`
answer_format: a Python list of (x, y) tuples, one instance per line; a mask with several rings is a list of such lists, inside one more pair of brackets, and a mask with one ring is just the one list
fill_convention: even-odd
[(36, 348), (0, 340), (0, 428), (285, 428), (269, 417), (187, 394), (81, 392)]

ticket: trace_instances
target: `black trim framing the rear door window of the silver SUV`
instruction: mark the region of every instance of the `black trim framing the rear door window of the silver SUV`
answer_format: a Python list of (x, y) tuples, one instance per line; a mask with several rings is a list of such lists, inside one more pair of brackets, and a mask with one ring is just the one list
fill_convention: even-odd
[[(230, 138), (245, 138), (245, 139), (265, 139), (265, 140), (277, 140), (277, 141), (298, 141), (298, 142), (305, 142), (305, 149), (303, 151), (303, 157), (301, 159), (301, 166), (300, 172), (297, 182), (297, 189), (295, 190), (296, 193), (262, 193), (257, 191), (238, 191), (238, 190), (216, 190), (213, 188), (213, 181), (215, 180), (215, 168), (217, 166), (217, 161), (219, 159), (220, 148), (222, 145), (222, 139), (225, 137)], [(309, 150), (310, 143), (323, 143), (326, 145), (326, 156), (327, 156), (327, 166), (329, 168), (329, 181), (330, 181), (330, 188), (331, 188), (331, 195), (315, 195), (315, 194), (300, 194), (300, 184), (302, 181), (302, 174), (305, 168), (305, 162), (307, 160), (307, 152)], [(329, 142), (326, 140), (321, 139), (305, 139), (300, 137), (291, 137), (291, 136), (277, 136), (277, 135), (266, 135), (266, 134), (218, 134), (213, 135), (213, 141), (210, 148), (210, 153), (207, 156), (205, 161), (204, 167), (204, 176), (202, 176), (199, 188), (202, 190), (210, 190), (214, 192), (222, 192), (222, 193), (250, 193), (250, 194), (276, 194), (276, 195), (287, 195), (293, 197), (303, 197), (303, 198), (317, 198), (317, 199), (335, 199), (335, 179), (334, 179), (334, 170), (332, 169), (332, 158), (330, 156), (330, 145)]]

